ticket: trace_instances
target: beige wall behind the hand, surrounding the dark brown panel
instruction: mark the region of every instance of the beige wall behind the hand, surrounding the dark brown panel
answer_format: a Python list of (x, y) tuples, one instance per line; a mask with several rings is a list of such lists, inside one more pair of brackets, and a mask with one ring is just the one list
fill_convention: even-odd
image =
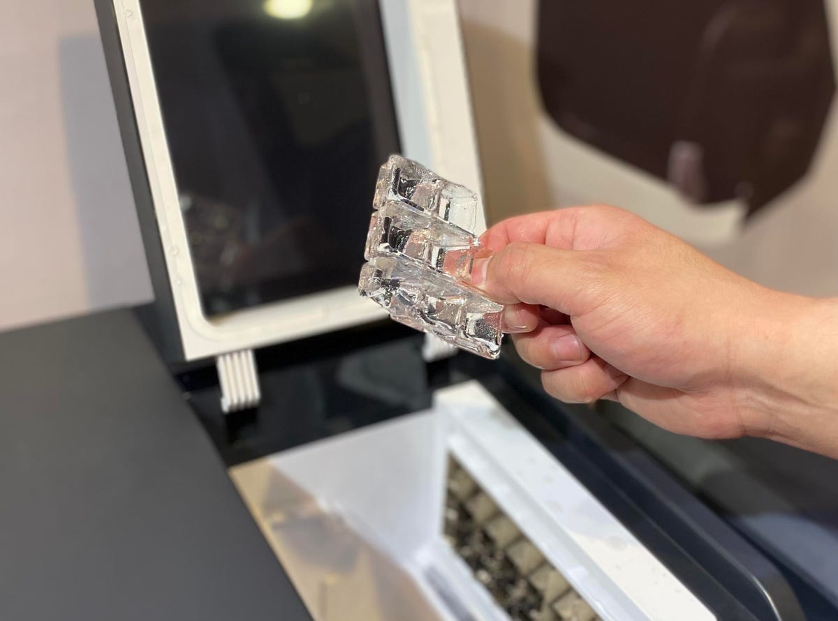
[[(838, 0), (828, 2), (838, 8)], [(565, 136), (542, 114), (535, 0), (458, 4), (490, 222), (572, 204), (615, 204), (765, 285), (838, 295), (838, 106), (810, 176), (743, 226), (742, 204), (695, 208), (665, 183)], [(838, 33), (838, 10), (831, 20)]]

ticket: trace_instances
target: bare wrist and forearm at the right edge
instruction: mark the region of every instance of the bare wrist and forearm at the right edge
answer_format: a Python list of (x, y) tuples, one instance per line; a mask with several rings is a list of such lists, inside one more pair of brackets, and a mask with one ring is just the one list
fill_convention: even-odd
[(838, 458), (838, 299), (770, 292), (746, 318), (749, 433)]

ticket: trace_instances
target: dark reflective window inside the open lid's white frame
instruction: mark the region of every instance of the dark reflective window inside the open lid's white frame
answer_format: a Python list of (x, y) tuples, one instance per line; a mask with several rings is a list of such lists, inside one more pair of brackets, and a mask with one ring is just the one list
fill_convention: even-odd
[(398, 151), (375, 0), (291, 4), (142, 1), (207, 315), (357, 282)]

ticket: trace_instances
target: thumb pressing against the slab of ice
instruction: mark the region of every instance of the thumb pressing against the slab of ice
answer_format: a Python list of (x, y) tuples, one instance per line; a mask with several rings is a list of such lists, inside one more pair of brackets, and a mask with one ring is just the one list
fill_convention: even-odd
[(541, 304), (566, 315), (581, 314), (585, 277), (584, 252), (544, 244), (515, 242), (489, 259), (475, 261), (472, 283), (501, 304)]

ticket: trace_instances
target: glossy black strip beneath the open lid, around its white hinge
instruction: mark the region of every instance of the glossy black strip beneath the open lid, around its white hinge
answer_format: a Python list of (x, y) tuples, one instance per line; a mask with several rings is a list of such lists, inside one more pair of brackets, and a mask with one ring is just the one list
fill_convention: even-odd
[(263, 348), (261, 404), (230, 414), (220, 409), (212, 367), (180, 372), (178, 381), (231, 466), (430, 408), (421, 350), (422, 335), (392, 321)]

